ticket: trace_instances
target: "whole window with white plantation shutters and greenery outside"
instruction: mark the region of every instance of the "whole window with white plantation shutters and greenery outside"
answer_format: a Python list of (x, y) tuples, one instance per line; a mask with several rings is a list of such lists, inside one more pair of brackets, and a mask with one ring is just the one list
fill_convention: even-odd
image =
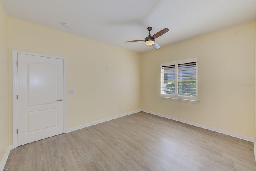
[(198, 103), (198, 58), (160, 64), (161, 99)]

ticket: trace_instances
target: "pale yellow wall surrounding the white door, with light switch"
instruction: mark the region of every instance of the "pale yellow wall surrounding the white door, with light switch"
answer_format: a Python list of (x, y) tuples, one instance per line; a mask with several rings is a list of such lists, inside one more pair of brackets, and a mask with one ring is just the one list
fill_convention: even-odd
[(8, 33), (10, 54), (66, 57), (67, 128), (141, 109), (141, 54), (12, 17)]

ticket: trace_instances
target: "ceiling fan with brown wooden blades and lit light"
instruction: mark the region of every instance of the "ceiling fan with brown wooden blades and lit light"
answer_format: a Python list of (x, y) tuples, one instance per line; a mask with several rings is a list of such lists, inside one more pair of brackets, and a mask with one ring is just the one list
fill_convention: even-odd
[(145, 39), (143, 39), (143, 40), (131, 40), (131, 41), (126, 41), (124, 43), (145, 41), (146, 45), (148, 45), (148, 46), (153, 45), (156, 49), (159, 49), (160, 46), (155, 42), (155, 38), (158, 38), (159, 36), (162, 36), (163, 34), (168, 32), (169, 29), (168, 28), (164, 28), (163, 30), (157, 32), (153, 36), (151, 36), (151, 34), (150, 34), (150, 31), (152, 30), (152, 27), (148, 27), (147, 29), (149, 31), (149, 34), (148, 34), (148, 36)]

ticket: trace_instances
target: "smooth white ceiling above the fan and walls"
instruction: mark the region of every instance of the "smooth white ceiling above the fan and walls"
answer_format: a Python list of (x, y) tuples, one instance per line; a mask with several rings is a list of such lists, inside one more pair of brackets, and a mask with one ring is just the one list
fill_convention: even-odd
[[(132, 1), (132, 0), (2, 0), (9, 16), (135, 52), (154, 50), (144, 39), (156, 38), (164, 47), (217, 30), (255, 20), (256, 0)], [(63, 26), (69, 23), (70, 28)]]

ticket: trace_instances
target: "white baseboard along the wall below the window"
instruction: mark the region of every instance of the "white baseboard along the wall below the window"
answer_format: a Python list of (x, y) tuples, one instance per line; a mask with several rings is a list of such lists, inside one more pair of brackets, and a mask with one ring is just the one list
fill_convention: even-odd
[(158, 115), (158, 116), (161, 116), (161, 117), (165, 117), (165, 118), (167, 118), (167, 119), (172, 119), (172, 120), (174, 120), (174, 121), (179, 121), (179, 122), (182, 122), (182, 123), (187, 123), (187, 124), (189, 124), (189, 125), (193, 125), (193, 126), (196, 126), (196, 127), (208, 129), (208, 130), (210, 130), (210, 131), (215, 131), (215, 132), (223, 133), (223, 134), (225, 134), (225, 135), (230, 135), (230, 136), (232, 136), (232, 137), (236, 137), (236, 138), (239, 138), (239, 139), (244, 139), (244, 140), (246, 140), (246, 141), (254, 142), (254, 138), (252, 138), (252, 137), (247, 137), (247, 136), (244, 136), (244, 135), (240, 135), (240, 134), (236, 134), (236, 133), (224, 131), (224, 130), (221, 130), (221, 129), (216, 129), (216, 128), (208, 127), (208, 126), (205, 126), (205, 125), (200, 125), (200, 124), (198, 124), (198, 123), (194, 123), (194, 122), (190, 122), (190, 121), (178, 119), (178, 118), (175, 118), (175, 117), (163, 115), (163, 114), (160, 114), (160, 113), (156, 113), (156, 112), (152, 112), (152, 111), (148, 111), (148, 110), (144, 110), (144, 109), (142, 109), (142, 111), (144, 111), (144, 112), (146, 112), (146, 113), (150, 113), (150, 114), (152, 114), (152, 115)]

